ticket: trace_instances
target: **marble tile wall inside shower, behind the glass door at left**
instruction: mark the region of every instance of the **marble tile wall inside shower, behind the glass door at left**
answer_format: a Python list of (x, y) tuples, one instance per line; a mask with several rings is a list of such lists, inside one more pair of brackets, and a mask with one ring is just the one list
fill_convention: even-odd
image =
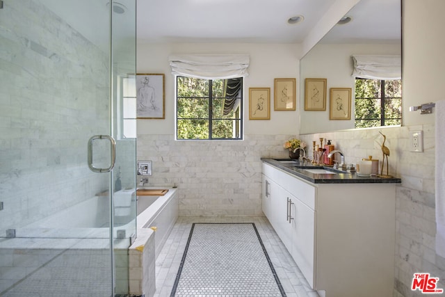
[(5, 3), (0, 28), (3, 233), (106, 189), (86, 145), (109, 131), (109, 79), (107, 54), (39, 1)]

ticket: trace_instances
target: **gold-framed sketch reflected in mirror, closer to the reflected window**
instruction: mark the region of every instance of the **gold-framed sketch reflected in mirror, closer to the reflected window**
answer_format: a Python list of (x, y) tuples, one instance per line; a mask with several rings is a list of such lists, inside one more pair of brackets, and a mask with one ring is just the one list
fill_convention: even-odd
[(330, 120), (350, 120), (352, 88), (330, 88)]

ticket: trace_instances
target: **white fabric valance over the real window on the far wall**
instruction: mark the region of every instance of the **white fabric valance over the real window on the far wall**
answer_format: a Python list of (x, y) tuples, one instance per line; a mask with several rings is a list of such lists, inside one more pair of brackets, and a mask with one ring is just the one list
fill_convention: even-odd
[(172, 74), (197, 79), (247, 77), (250, 56), (245, 54), (175, 54), (169, 57)]

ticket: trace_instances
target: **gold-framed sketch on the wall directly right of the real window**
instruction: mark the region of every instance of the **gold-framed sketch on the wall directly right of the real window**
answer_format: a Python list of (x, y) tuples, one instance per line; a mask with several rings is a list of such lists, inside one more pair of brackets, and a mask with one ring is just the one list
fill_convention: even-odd
[(249, 120), (270, 120), (270, 88), (249, 88)]

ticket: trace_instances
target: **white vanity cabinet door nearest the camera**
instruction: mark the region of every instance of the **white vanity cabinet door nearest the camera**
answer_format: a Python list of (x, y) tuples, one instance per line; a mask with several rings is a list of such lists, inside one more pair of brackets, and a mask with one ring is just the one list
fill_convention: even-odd
[(291, 204), (292, 257), (314, 288), (314, 232), (316, 213), (293, 196)]

